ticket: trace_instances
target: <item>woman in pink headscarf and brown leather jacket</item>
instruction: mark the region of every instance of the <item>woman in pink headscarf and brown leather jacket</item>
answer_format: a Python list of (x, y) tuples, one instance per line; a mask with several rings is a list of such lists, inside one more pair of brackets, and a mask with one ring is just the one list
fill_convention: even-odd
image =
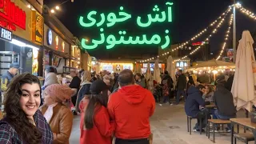
[(44, 93), (45, 104), (41, 110), (53, 131), (54, 144), (69, 144), (73, 114), (63, 102), (70, 99), (74, 91), (69, 86), (53, 84), (47, 86)]

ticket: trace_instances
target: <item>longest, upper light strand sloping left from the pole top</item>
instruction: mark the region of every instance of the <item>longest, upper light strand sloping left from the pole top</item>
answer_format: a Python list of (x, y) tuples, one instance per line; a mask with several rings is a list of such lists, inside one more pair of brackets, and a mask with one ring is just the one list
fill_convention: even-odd
[[(215, 26), (215, 24), (217, 24), (219, 19), (223, 19), (222, 17), (226, 18), (226, 14), (230, 13), (231, 7), (229, 7), (224, 13), (221, 14), (221, 16), (219, 16), (216, 20), (214, 20), (214, 22), (211, 22), (209, 26), (207, 26), (204, 30), (202, 30), (201, 32), (199, 32), (198, 34), (196, 34), (194, 37), (190, 38), (190, 40), (183, 42), (180, 46), (177, 46), (176, 48), (174, 48), (173, 50), (167, 51), (166, 53), (162, 54), (161, 56), (165, 56), (167, 54), (170, 54), (170, 52), (174, 52), (175, 50), (181, 49), (183, 46), (187, 46), (190, 42), (194, 41), (195, 39), (199, 38), (202, 34), (206, 33), (207, 30), (210, 29), (210, 27)], [(214, 33), (217, 31), (217, 29), (220, 26), (216, 26), (214, 28)], [(157, 57), (153, 57), (153, 58), (148, 58), (139, 62), (149, 62), (151, 60), (154, 60), (156, 58), (159, 58), (159, 55)]]

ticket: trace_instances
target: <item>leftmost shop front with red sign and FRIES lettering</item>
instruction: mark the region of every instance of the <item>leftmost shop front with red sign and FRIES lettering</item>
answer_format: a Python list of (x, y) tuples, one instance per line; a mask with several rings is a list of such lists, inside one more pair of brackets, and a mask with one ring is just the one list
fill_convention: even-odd
[[(10, 63), (18, 62), (19, 73), (29, 72), (38, 76), (42, 46), (43, 18), (29, 3), (6, 0), (0, 7), (0, 74), (10, 68)], [(17, 9), (18, 8), (18, 9)], [(13, 13), (15, 10), (15, 13)]]

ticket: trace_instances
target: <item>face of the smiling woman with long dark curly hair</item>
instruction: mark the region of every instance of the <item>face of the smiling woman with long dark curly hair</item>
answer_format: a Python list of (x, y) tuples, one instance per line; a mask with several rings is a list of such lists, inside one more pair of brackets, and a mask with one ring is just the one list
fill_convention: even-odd
[(22, 85), (22, 96), (19, 103), (28, 118), (33, 118), (34, 113), (40, 106), (40, 102), (40, 86), (38, 83)]

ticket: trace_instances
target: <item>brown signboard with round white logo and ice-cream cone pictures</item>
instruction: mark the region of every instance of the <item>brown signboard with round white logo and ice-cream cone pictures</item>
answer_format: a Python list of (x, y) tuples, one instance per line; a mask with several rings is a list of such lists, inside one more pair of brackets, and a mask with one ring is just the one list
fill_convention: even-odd
[(64, 41), (58, 34), (54, 32), (54, 30), (50, 30), (50, 27), (44, 24), (43, 26), (44, 29), (44, 36), (43, 38), (46, 39), (44, 42), (44, 46), (49, 47), (50, 49), (53, 50), (58, 50), (63, 53), (69, 54), (69, 47), (70, 44)]

